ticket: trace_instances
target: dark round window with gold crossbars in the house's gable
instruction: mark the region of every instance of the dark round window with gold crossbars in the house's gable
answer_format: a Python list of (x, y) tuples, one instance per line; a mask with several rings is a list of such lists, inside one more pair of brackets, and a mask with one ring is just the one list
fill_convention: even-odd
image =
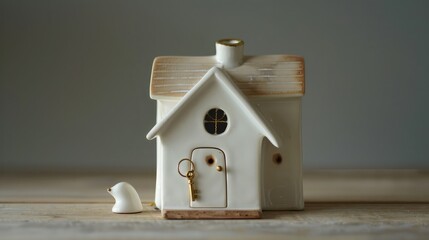
[(228, 126), (228, 117), (225, 112), (219, 108), (212, 108), (204, 117), (204, 127), (206, 131), (213, 135), (225, 132)]

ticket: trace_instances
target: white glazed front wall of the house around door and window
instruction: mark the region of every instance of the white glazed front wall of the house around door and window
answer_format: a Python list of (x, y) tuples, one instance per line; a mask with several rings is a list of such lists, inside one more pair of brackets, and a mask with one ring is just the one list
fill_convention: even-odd
[[(163, 146), (161, 209), (203, 209), (190, 208), (187, 179), (178, 174), (177, 165), (181, 159), (190, 158), (195, 148), (215, 147), (221, 149), (226, 157), (226, 209), (261, 210), (260, 156), (263, 136), (231, 96), (218, 85), (201, 94), (204, 95), (198, 96), (198, 101), (191, 107), (177, 113), (179, 115), (174, 123), (160, 133), (160, 144)], [(168, 102), (162, 107), (168, 108), (171, 104)], [(226, 132), (217, 136), (207, 133), (203, 125), (206, 112), (214, 107), (227, 113), (229, 124)], [(198, 174), (198, 169), (196, 172)], [(196, 186), (198, 188), (197, 179)]]

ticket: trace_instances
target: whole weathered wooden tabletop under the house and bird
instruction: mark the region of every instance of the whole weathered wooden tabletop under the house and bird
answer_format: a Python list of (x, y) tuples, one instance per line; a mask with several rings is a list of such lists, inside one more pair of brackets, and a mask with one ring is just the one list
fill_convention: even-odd
[[(257, 220), (165, 220), (153, 174), (0, 174), (0, 239), (428, 239), (429, 174), (313, 171), (304, 211)], [(114, 214), (106, 188), (134, 185), (138, 214)]]

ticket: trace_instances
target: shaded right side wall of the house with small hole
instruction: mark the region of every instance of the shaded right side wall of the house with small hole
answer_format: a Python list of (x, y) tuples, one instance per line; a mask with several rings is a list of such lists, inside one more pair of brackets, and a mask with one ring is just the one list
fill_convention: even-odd
[(252, 99), (252, 104), (271, 123), (282, 142), (279, 148), (266, 139), (262, 144), (263, 209), (303, 209), (301, 98)]

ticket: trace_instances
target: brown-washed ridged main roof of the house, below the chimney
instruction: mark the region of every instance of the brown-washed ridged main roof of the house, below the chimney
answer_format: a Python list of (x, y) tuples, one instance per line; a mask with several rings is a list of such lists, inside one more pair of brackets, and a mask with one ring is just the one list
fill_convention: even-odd
[[(215, 56), (157, 57), (150, 96), (183, 97), (213, 67)], [(291, 55), (246, 56), (241, 66), (224, 69), (247, 96), (291, 97), (304, 94), (304, 58)]]

